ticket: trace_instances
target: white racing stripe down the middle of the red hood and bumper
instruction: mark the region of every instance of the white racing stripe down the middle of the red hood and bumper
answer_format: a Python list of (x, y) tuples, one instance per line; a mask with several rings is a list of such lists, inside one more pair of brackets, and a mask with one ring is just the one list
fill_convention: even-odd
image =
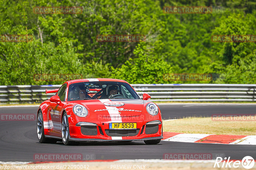
[[(103, 104), (105, 102), (111, 102), (109, 99), (99, 99), (99, 101)], [(116, 107), (112, 107), (112, 106), (106, 106), (106, 109), (108, 110), (108, 114), (111, 118), (111, 123), (122, 123), (122, 117), (121, 115), (118, 113), (118, 109)], [(123, 139), (122, 137), (111, 137), (112, 140), (121, 140)]]

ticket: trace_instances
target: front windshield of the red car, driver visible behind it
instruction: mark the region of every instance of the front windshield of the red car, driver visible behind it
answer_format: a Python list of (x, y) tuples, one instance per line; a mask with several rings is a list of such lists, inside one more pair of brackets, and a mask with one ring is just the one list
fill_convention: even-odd
[(85, 81), (70, 84), (68, 101), (94, 99), (140, 99), (128, 83), (116, 81)]

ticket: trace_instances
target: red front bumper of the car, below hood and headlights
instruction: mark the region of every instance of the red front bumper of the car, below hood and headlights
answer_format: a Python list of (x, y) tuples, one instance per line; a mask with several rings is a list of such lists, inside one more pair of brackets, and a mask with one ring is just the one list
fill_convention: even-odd
[[(69, 122), (69, 139), (72, 141), (125, 141), (125, 140), (155, 140), (155, 139), (162, 139), (162, 119), (161, 114), (156, 116), (151, 116), (149, 114), (134, 116), (134, 117), (122, 117), (122, 123), (136, 123), (137, 129), (134, 130), (136, 133), (127, 132), (129, 130), (109, 130), (109, 123), (113, 123), (113, 117), (94, 117), (97, 115), (90, 115), (90, 117), (77, 117), (72, 115), (68, 118)], [(148, 125), (147, 123), (150, 121), (159, 120), (161, 124), (158, 124), (155, 127), (152, 125)], [(72, 123), (71, 123), (72, 122)], [(78, 122), (91, 122), (96, 124), (91, 131), (90, 128), (87, 127), (92, 126), (76, 126)], [(118, 121), (116, 121), (117, 123)], [(82, 130), (82, 128), (84, 128)], [(86, 129), (88, 134), (86, 134)], [(127, 134), (126, 134), (127, 132)], [(132, 134), (132, 135), (131, 135)]]

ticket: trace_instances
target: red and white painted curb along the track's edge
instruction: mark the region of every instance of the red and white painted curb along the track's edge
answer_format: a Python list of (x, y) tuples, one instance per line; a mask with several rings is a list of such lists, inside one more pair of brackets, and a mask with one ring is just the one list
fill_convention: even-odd
[(256, 145), (256, 135), (212, 135), (163, 132), (163, 136), (163, 141), (170, 142)]

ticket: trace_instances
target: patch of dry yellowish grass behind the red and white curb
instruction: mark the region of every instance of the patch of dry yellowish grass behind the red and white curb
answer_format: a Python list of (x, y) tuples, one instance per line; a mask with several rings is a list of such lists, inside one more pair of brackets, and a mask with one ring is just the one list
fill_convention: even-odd
[(255, 121), (212, 121), (211, 117), (186, 117), (163, 121), (163, 130), (178, 133), (256, 135)]

